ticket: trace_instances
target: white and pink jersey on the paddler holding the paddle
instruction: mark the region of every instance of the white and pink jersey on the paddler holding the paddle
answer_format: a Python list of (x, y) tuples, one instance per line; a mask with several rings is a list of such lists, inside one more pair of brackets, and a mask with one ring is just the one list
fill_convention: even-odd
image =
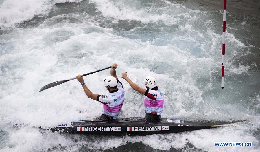
[(121, 82), (117, 80), (117, 90), (108, 94), (98, 95), (97, 101), (103, 104), (102, 113), (116, 119), (124, 103), (125, 90)]

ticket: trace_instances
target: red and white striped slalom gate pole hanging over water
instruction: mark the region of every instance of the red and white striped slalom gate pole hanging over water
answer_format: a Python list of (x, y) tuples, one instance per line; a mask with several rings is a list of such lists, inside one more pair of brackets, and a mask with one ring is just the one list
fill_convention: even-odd
[(221, 72), (221, 88), (222, 89), (224, 88), (225, 41), (226, 41), (226, 0), (224, 0), (224, 12), (223, 12), (222, 72)]

